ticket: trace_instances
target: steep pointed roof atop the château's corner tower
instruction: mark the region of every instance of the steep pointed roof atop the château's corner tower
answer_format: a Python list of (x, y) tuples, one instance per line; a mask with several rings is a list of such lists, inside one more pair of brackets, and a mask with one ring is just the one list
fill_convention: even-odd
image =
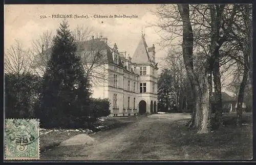
[(146, 64), (150, 62), (150, 56), (148, 52), (152, 51), (153, 48), (147, 47), (146, 40), (145, 40), (145, 35), (142, 35), (140, 42), (133, 54), (132, 62), (137, 63), (137, 64)]

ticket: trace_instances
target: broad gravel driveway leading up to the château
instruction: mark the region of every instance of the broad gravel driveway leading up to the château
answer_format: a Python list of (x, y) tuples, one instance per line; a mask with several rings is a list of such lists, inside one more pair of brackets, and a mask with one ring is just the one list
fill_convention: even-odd
[[(93, 145), (59, 146), (48, 151), (58, 160), (158, 160), (176, 159), (168, 147), (172, 121), (189, 114), (154, 114), (147, 117), (119, 118), (123, 126), (90, 135)], [(63, 153), (63, 154), (62, 154)], [(58, 154), (58, 155), (56, 155)], [(60, 156), (62, 155), (62, 156)]]

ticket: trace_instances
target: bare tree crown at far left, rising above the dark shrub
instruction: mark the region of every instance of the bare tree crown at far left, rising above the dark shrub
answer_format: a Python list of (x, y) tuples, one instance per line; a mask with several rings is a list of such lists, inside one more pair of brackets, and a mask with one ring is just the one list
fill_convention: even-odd
[(30, 52), (20, 41), (15, 40), (15, 44), (11, 45), (4, 54), (4, 68), (7, 73), (20, 75), (31, 71)]

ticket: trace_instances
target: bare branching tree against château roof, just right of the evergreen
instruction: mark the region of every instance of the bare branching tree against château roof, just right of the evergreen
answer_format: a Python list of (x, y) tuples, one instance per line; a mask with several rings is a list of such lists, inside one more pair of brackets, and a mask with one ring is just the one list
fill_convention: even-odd
[(73, 31), (73, 37), (77, 45), (77, 54), (81, 57), (86, 77), (96, 85), (99, 82), (109, 80), (106, 75), (108, 53), (112, 49), (108, 46), (108, 39), (102, 34), (96, 34), (90, 26), (78, 25)]

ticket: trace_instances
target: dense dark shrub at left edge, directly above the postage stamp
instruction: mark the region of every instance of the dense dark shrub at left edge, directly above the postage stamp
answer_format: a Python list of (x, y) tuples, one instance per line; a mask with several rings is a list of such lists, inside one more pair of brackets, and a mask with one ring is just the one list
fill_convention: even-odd
[(5, 117), (34, 118), (38, 108), (41, 78), (27, 74), (5, 74)]

